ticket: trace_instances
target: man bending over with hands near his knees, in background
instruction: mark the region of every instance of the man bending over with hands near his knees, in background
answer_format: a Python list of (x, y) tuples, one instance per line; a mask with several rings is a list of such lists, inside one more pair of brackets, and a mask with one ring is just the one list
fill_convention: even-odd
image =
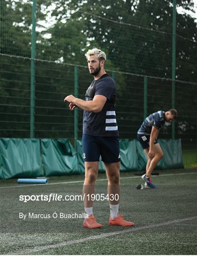
[(167, 112), (162, 110), (157, 111), (148, 116), (137, 131), (137, 139), (148, 157), (146, 174), (142, 175), (142, 179), (145, 181), (145, 187), (158, 188), (151, 182), (151, 173), (163, 157), (163, 151), (161, 146), (158, 144), (157, 136), (160, 128), (165, 124), (165, 122), (171, 122), (177, 118), (177, 115), (177, 110), (174, 109)]

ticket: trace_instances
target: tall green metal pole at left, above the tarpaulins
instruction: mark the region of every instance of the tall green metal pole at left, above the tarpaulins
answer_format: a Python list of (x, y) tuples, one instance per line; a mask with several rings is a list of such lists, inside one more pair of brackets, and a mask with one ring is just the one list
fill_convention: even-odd
[(35, 27), (36, 27), (36, 0), (32, 7), (32, 47), (31, 47), (31, 106), (30, 106), (30, 138), (34, 138), (35, 123)]

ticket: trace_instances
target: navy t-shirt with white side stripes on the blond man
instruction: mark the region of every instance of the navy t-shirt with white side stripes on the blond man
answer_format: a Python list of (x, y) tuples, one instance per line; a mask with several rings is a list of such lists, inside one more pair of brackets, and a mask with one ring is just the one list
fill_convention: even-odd
[(98, 113), (84, 110), (83, 134), (101, 137), (119, 136), (115, 112), (116, 88), (109, 74), (104, 74), (91, 83), (86, 91), (85, 100), (92, 101), (94, 95), (103, 95), (107, 101)]

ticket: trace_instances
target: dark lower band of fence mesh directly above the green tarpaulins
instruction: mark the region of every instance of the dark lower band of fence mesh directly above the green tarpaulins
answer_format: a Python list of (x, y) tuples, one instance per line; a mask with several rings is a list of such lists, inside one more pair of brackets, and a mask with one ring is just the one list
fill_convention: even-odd
[[(30, 136), (30, 61), (0, 56), (0, 137)], [(85, 98), (92, 81), (87, 68), (79, 67), (78, 97)], [(112, 73), (109, 72), (111, 75)], [(68, 137), (73, 143), (74, 112), (63, 101), (74, 94), (74, 66), (36, 62), (35, 137)], [(143, 77), (115, 73), (116, 114), (120, 138), (134, 139), (144, 119)], [(197, 139), (197, 86), (176, 82), (175, 106), (179, 117), (175, 136), (191, 148)], [(147, 114), (171, 108), (171, 81), (148, 78)], [(83, 111), (78, 111), (78, 138), (82, 137)], [(171, 138), (171, 126), (159, 138)]]

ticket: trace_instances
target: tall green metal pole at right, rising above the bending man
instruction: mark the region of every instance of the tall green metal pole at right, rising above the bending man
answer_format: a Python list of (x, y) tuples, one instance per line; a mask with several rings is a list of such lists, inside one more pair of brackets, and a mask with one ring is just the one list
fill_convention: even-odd
[[(172, 85), (171, 85), (171, 107), (175, 109), (175, 79), (176, 79), (176, 0), (173, 0), (172, 16)], [(172, 139), (175, 139), (175, 123), (172, 122)]]

